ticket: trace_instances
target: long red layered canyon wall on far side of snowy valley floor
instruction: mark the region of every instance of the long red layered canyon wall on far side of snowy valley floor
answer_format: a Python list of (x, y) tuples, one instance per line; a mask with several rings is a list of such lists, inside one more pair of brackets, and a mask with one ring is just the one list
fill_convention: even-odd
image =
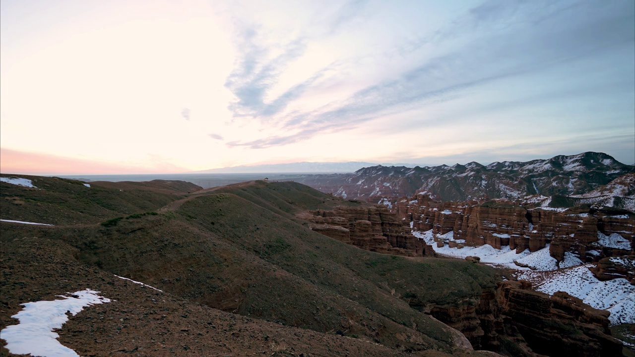
[(453, 232), (457, 245), (509, 245), (520, 253), (551, 243), (550, 253), (558, 261), (570, 252), (583, 262), (632, 254), (635, 247), (635, 213), (615, 208), (535, 207), (507, 199), (441, 202), (427, 194), (400, 199), (393, 207), (398, 218), (413, 222), (414, 229)]

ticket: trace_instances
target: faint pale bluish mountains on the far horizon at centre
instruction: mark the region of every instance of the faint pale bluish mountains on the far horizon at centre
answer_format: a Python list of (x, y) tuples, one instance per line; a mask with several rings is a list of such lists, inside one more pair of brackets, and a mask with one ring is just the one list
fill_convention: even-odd
[[(269, 165), (251, 165), (251, 166), (232, 166), (224, 168), (213, 168), (210, 170), (201, 170), (191, 173), (349, 173), (369, 166), (404, 166), (415, 167), (417, 164), (377, 164), (364, 163), (359, 161), (349, 161), (347, 163), (311, 163), (303, 161), (301, 163), (287, 164), (269, 164)], [(421, 164), (418, 164), (421, 165)]]

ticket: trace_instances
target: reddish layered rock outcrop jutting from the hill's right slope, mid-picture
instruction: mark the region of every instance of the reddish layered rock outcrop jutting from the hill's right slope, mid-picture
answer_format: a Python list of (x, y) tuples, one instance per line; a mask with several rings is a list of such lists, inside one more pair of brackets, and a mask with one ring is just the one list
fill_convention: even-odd
[(434, 250), (410, 234), (410, 227), (385, 206), (337, 206), (301, 215), (309, 228), (372, 252), (434, 256)]

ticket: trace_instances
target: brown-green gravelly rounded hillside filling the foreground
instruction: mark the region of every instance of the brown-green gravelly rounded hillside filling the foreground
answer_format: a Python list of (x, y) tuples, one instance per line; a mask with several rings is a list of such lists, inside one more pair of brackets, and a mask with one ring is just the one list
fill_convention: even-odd
[[(42, 223), (27, 198), (69, 203), (50, 206), (47, 218), (61, 225), (0, 223), (0, 328), (16, 322), (9, 316), (23, 302), (91, 288), (114, 300), (70, 318), (60, 338), (83, 355), (479, 355), (473, 346), (536, 356), (532, 348), (574, 335), (571, 353), (589, 341), (597, 342), (591, 355), (621, 348), (601, 315), (562, 320), (550, 335), (518, 332), (509, 325), (517, 303), (504, 302), (516, 295), (503, 292), (533, 292), (491, 267), (368, 252), (312, 231), (298, 213), (364, 204), (297, 182), (171, 194), (164, 182), (116, 189), (23, 178), (37, 188), (3, 182), (3, 197), (13, 198), (3, 199), (3, 219)], [(91, 201), (84, 189), (104, 198)], [(110, 212), (89, 222), (75, 202)], [(517, 318), (518, 328), (530, 318)]]

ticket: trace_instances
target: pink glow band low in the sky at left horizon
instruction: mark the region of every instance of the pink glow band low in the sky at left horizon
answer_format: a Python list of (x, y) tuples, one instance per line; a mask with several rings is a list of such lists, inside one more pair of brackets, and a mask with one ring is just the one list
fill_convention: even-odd
[(88, 159), (65, 158), (50, 154), (0, 149), (0, 172), (26, 175), (100, 175), (137, 173), (180, 173), (187, 169), (177, 166), (161, 167), (119, 165)]

